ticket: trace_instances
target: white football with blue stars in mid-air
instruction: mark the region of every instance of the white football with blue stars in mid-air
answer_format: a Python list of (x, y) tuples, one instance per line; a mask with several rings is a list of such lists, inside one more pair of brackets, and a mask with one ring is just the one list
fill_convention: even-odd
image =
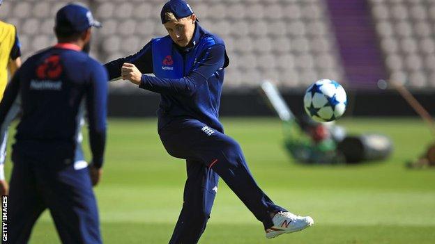
[(317, 122), (337, 120), (346, 111), (344, 88), (330, 79), (321, 79), (312, 84), (304, 96), (305, 112)]

